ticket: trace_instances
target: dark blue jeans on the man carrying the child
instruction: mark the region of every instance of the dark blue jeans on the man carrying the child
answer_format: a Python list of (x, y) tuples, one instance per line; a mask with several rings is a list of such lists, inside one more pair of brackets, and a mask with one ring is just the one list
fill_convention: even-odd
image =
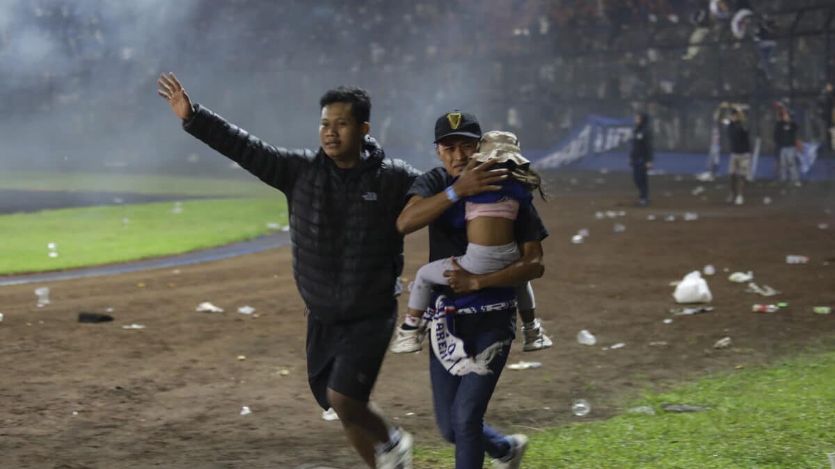
[[(468, 345), (468, 352), (475, 355), (494, 342), (510, 337), (504, 330), (488, 330), (462, 339)], [(508, 361), (509, 351), (510, 345), (505, 345), (502, 353), (489, 364), (493, 374), (486, 376), (475, 373), (451, 375), (444, 370), (435, 354), (428, 354), (435, 420), (441, 435), (455, 445), (456, 469), (480, 469), (485, 452), (498, 459), (507, 456), (511, 449), (510, 441), (504, 435), (484, 423), (484, 413)]]

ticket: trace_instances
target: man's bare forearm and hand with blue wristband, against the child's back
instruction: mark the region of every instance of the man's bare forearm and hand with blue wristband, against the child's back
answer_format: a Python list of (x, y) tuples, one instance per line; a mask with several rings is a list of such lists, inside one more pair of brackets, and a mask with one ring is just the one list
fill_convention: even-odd
[[(467, 167), (458, 176), (452, 188), (455, 199), (463, 199), (470, 195), (481, 194), (488, 190), (498, 190), (495, 185), (507, 179), (507, 169), (490, 169), (494, 161), (476, 166), (476, 160), (470, 159)], [(446, 192), (440, 192), (432, 197), (424, 198), (412, 195), (400, 215), (397, 217), (397, 231), (408, 235), (432, 223), (443, 212), (453, 206), (453, 199)]]

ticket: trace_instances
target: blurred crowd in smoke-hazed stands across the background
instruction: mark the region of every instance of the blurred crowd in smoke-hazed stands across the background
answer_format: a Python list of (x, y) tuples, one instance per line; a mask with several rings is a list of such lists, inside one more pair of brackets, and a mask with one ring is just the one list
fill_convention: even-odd
[[(803, 133), (818, 125), (816, 95), (835, 74), (835, 44), (826, 44), (835, 33), (816, 23), (832, 6), (816, 0), (762, 0), (756, 8), (746, 0), (150, 4), (163, 12), (159, 23), (178, 28), (143, 27), (156, 17), (142, 15), (114, 20), (113, 4), (103, 0), (84, 8), (69, 0), (18, 3), (15, 14), (25, 21), (0, 22), (0, 62), (33, 32), (56, 43), (62, 60), (38, 63), (39, 73), (27, 73), (35, 65), (0, 66), (21, 72), (0, 92), (4, 101), (21, 113), (71, 111), (79, 102), (111, 108), (116, 100), (142, 108), (154, 74), (177, 65), (207, 81), (247, 77), (245, 88), (215, 83), (220, 109), (241, 102), (307, 109), (293, 99), (359, 84), (372, 91), (377, 134), (397, 149), (431, 154), (431, 123), (453, 107), (517, 132), (529, 149), (553, 146), (588, 114), (625, 117), (642, 108), (656, 117), (658, 149), (692, 151), (706, 149), (712, 109), (728, 99), (748, 100), (755, 115), (762, 108), (765, 134), (774, 122), (767, 109), (791, 96), (801, 134), (811, 139)], [(798, 22), (811, 33), (790, 40), (797, 19), (791, 12), (822, 4)], [(739, 38), (730, 23), (743, 8), (754, 14)], [(179, 23), (165, 23), (177, 9)], [(108, 83), (84, 86), (99, 74)], [(119, 90), (118, 98), (103, 90)], [(75, 120), (83, 128), (94, 118)], [(286, 132), (304, 132), (306, 124), (289, 123)]]

